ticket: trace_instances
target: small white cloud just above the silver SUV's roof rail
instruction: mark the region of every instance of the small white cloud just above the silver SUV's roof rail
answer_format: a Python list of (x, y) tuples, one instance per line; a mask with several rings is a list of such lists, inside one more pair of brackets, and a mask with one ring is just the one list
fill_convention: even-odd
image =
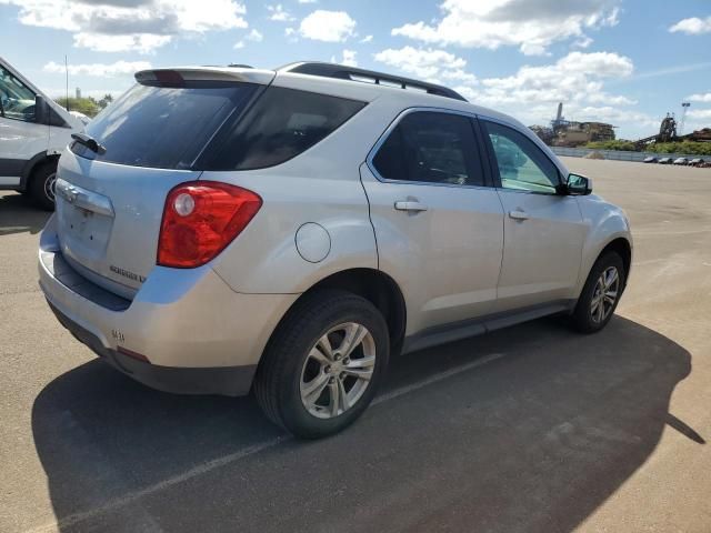
[(473, 74), (464, 71), (467, 60), (444, 50), (389, 48), (375, 53), (373, 58), (407, 74), (435, 83), (448, 79), (474, 84), (477, 80)]

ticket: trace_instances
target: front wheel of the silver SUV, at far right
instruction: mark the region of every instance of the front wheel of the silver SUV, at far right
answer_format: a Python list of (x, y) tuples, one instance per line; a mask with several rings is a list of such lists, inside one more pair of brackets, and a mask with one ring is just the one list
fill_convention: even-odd
[(627, 273), (617, 252), (605, 252), (593, 264), (572, 314), (574, 328), (581, 333), (602, 330), (618, 306)]

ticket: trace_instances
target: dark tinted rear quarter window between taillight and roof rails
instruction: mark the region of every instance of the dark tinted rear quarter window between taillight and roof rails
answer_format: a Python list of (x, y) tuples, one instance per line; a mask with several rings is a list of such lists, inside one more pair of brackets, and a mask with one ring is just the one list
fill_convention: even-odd
[(206, 150), (203, 170), (251, 170), (294, 158), (363, 109), (364, 102), (270, 87)]

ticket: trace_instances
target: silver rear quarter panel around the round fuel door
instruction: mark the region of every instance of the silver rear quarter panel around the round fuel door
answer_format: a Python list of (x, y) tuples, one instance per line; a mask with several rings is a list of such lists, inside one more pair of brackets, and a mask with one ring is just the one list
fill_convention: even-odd
[[(354, 169), (358, 172), (358, 169)], [(203, 174), (210, 179), (210, 173)], [(213, 261), (214, 271), (237, 292), (300, 293), (321, 279), (351, 268), (378, 268), (375, 239), (360, 181), (242, 172), (232, 179), (257, 192), (262, 208), (244, 231)], [(299, 228), (320, 224), (330, 249), (320, 262), (303, 259)]]

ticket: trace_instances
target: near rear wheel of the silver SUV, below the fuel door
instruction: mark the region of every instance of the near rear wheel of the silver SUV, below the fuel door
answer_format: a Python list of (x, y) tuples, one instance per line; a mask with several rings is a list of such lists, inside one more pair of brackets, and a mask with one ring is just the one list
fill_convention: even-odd
[(301, 439), (341, 431), (372, 401), (390, 344), (382, 314), (346, 291), (319, 291), (292, 309), (270, 340), (254, 395), (276, 424)]

